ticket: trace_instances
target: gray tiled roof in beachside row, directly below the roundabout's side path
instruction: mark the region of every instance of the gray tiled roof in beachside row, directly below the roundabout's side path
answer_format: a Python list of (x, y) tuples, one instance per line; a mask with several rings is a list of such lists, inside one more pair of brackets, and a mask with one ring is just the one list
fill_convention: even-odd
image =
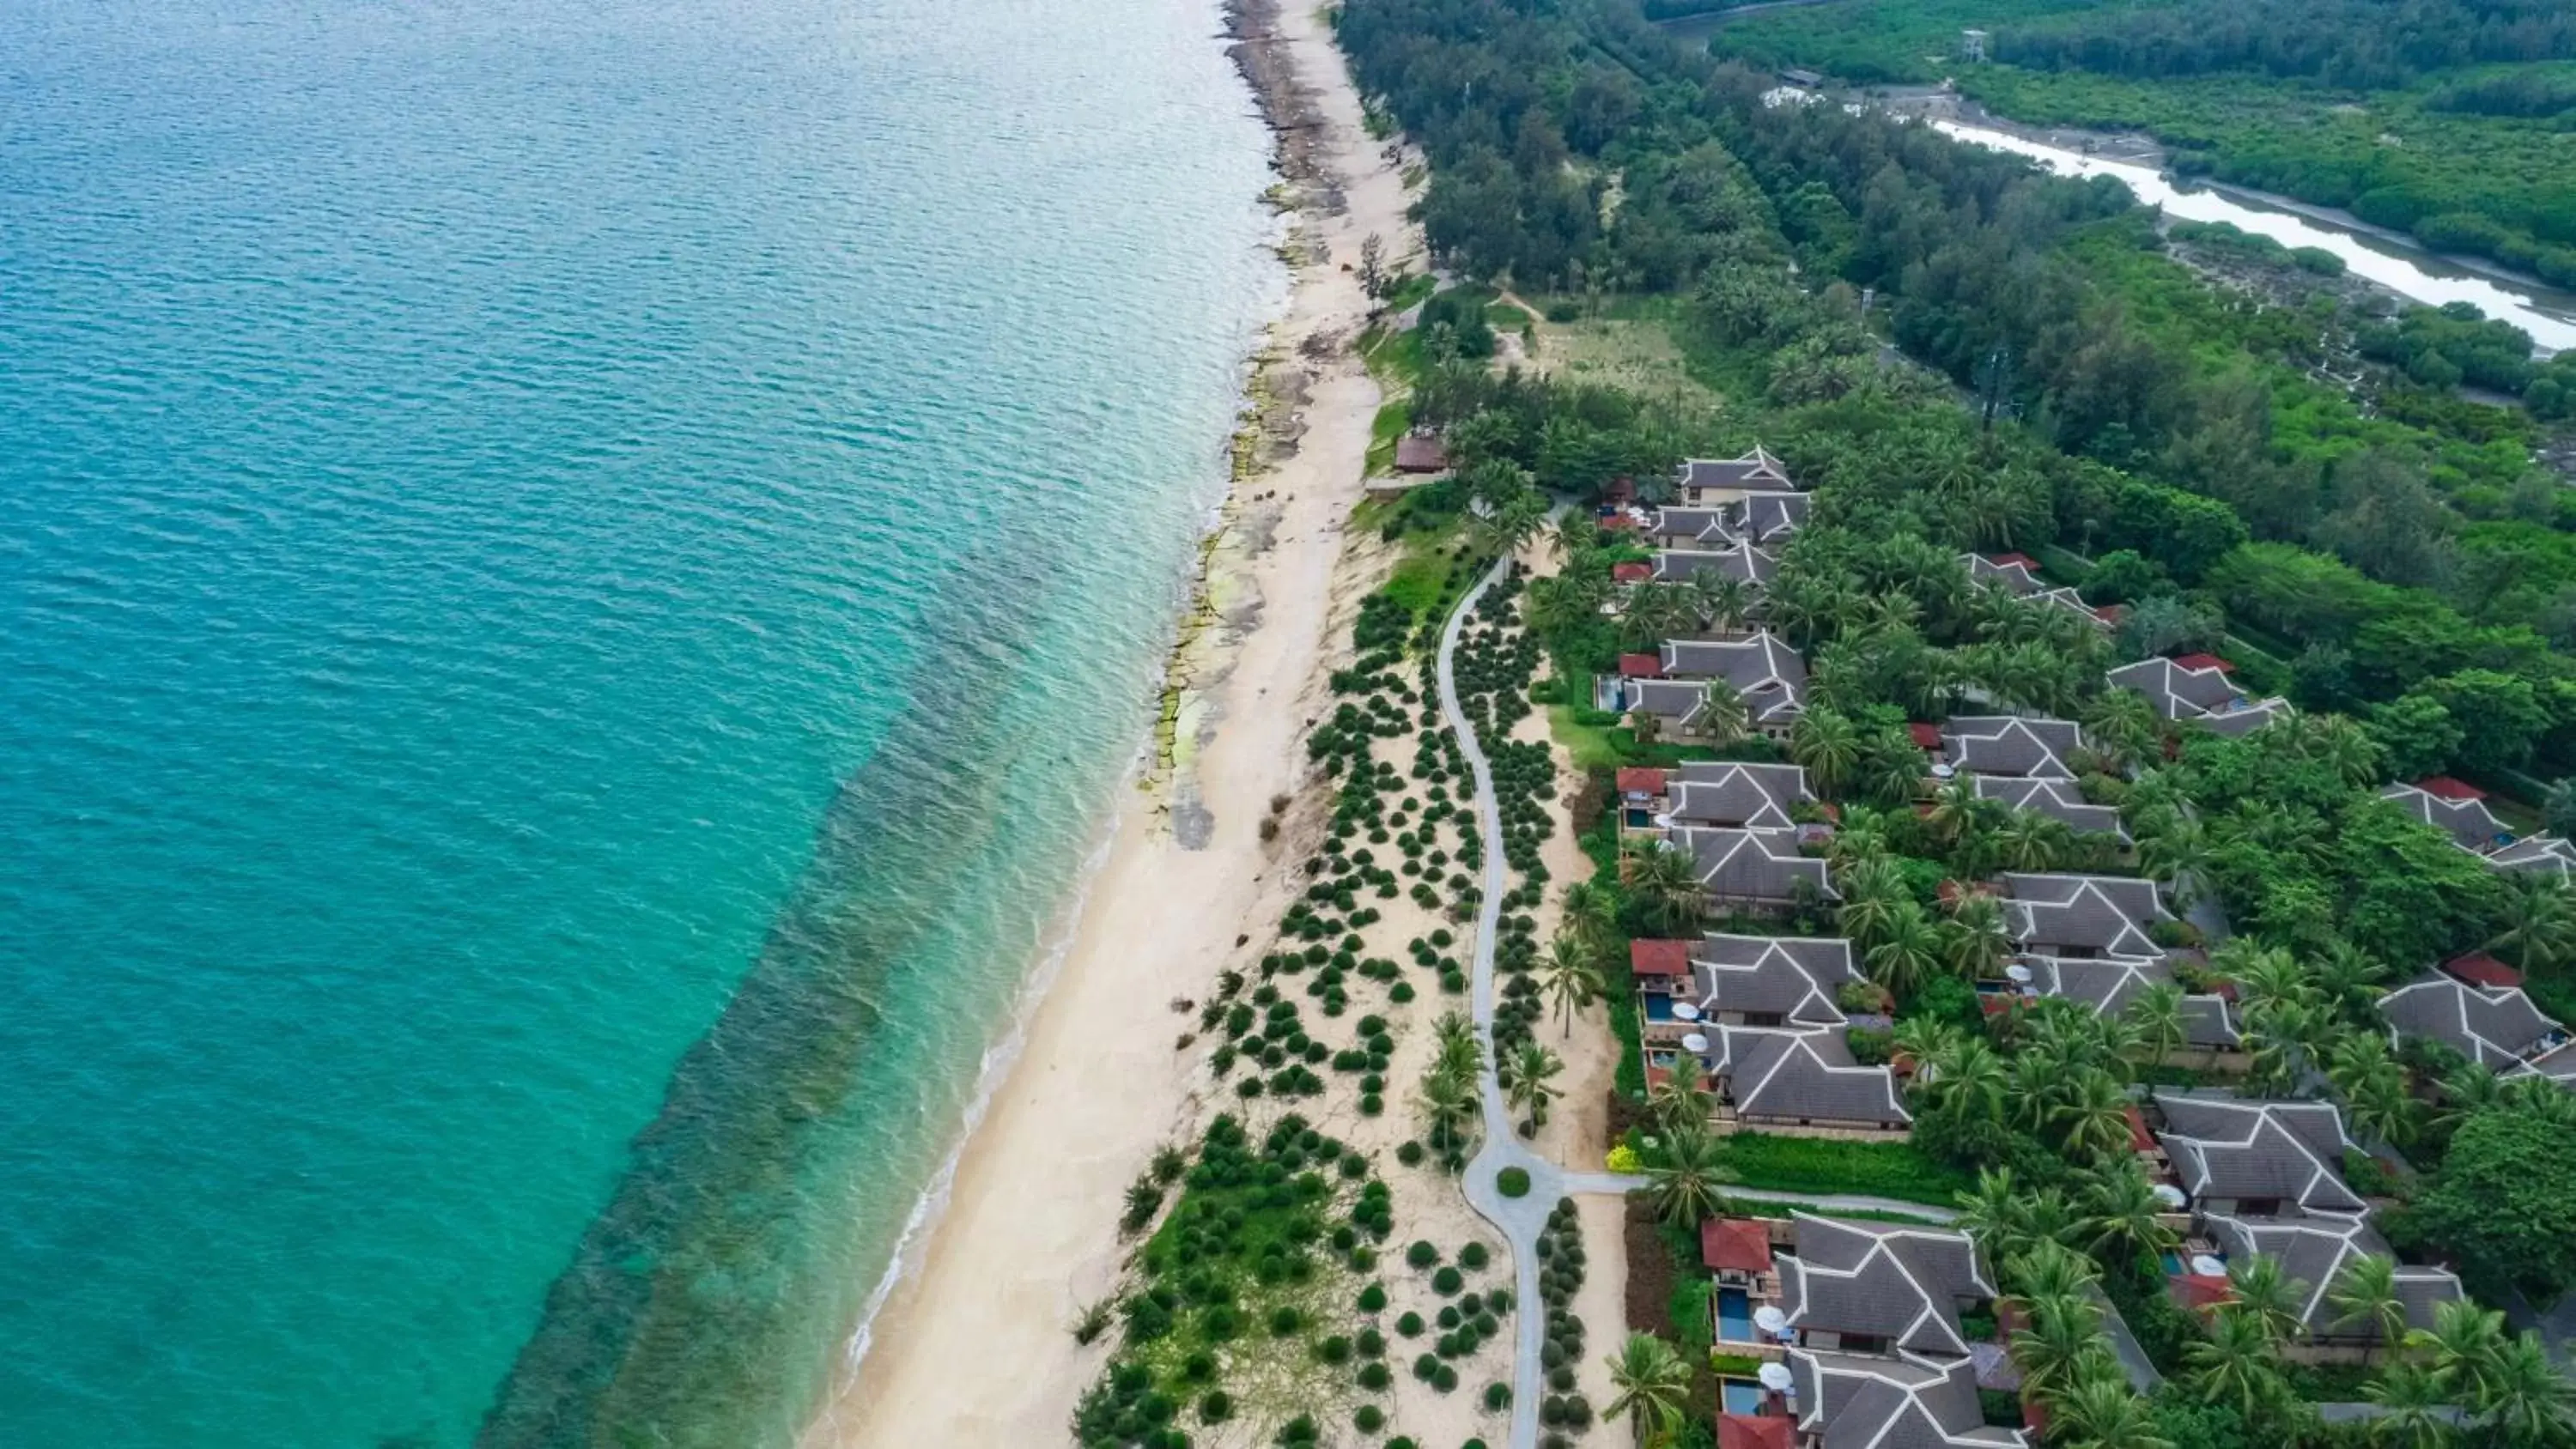
[(1976, 1246), (1947, 1228), (1847, 1223), (1793, 1212), (1795, 1256), (1780, 1261), (1780, 1310), (1793, 1328), (1870, 1333), (1911, 1354), (1965, 1354), (1960, 1302), (1994, 1297)]

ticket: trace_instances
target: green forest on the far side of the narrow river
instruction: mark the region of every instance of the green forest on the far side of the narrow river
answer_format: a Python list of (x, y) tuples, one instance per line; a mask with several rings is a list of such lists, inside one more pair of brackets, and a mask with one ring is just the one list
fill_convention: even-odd
[[(1958, 57), (1991, 31), (1996, 64)], [(2553, 0), (1855, 0), (1716, 33), (1759, 64), (1950, 77), (2004, 116), (2143, 129), (2174, 167), (2576, 286), (2576, 10)]]

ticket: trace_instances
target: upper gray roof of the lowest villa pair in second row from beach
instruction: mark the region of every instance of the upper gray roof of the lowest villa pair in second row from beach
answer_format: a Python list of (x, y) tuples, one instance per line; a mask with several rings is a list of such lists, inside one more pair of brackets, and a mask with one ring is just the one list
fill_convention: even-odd
[(2352, 1145), (2329, 1102), (2254, 1102), (2226, 1091), (2156, 1091), (2164, 1156), (2197, 1199), (2280, 1199), (2300, 1212), (2362, 1212), (2344, 1186)]

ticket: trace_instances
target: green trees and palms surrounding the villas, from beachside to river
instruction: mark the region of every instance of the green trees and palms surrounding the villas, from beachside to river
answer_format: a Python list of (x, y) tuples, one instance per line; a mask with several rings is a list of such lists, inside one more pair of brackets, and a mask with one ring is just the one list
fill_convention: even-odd
[[(2537, 800), (2527, 772), (2568, 759), (2566, 641), (2530, 625), (2545, 615), (2532, 595), (2463, 587), (2473, 553), (2501, 538), (2558, 535), (2555, 497), (2517, 453), (2530, 435), (2481, 443), (2470, 417), (2439, 407), (2421, 422), (2367, 417), (2293, 368), (2300, 317), (2226, 299), (2166, 260), (2169, 242), (2123, 193), (1880, 116), (1765, 106), (1762, 77), (1677, 51), (1625, 5), (1352, 0), (1342, 36), (1435, 160), (1425, 224), (1445, 260), (1522, 293), (1602, 278), (1677, 293), (1674, 335), (1723, 396), (1674, 417), (1432, 363), (1419, 394), (1448, 399), (1432, 414), (1463, 474), (1520, 468), (1584, 504), (1625, 479), (1656, 502), (1680, 450), (1726, 456), (1759, 438), (1814, 499), (1811, 522), (1772, 546), (1765, 618), (1808, 659), (1808, 713), (1785, 754), (1832, 811), (1837, 898), (1798, 901), (1765, 929), (1837, 934), (1868, 963), (1891, 1017), (1870, 1050), (1909, 1066), (1911, 1140), (1713, 1135), (1690, 1063), (1649, 1084), (1636, 1017), (1613, 993), (1613, 1166), (1649, 1179), (1641, 1207), (1664, 1238), (1649, 1251), (1631, 1228), (1631, 1284), (1654, 1261), (1687, 1284), (1698, 1223), (1749, 1207), (1728, 1202), (1734, 1186), (1904, 1197), (1963, 1212), (2022, 1305), (2007, 1349), (2050, 1444), (2347, 1444), (2354, 1431), (2316, 1405), (2352, 1398), (2419, 1444), (2563, 1439), (2568, 1387), (2540, 1341), (2476, 1302), (2357, 1369), (2293, 1359), (2308, 1325), (2285, 1307), (2295, 1284), (2277, 1261), (2239, 1264), (2218, 1310), (2177, 1307), (2161, 1256), (2179, 1243), (2130, 1153), (2130, 1109), (2151, 1084), (2316, 1094), (2380, 1148), (2344, 1174), (2383, 1199), (2396, 1253), (2455, 1261), (2488, 1300), (2566, 1287), (2548, 1246), (2563, 1238), (2555, 1212), (2535, 1207), (2527, 1230), (2470, 1215), (2514, 1199), (2491, 1176), (2506, 1163), (2527, 1171), (2524, 1192), (2558, 1189), (2576, 1153), (2571, 1096), (2545, 1078), (2496, 1081), (2429, 1042), (2393, 1048), (2375, 1006), (2398, 975), (2478, 947), (2519, 965), (2540, 999), (2563, 993), (2576, 963), (2561, 885), (2517, 885), (2378, 798), (2393, 772), (2452, 770)], [(2246, 250), (2223, 234), (2182, 245)], [(1862, 286), (1878, 306), (1860, 306)], [(2470, 368), (2512, 381), (2499, 371), (2512, 340), (2470, 317), (2409, 314), (2357, 345), (2427, 391)], [(1600, 453), (1571, 448), (1579, 438)], [(2488, 522), (2504, 528), (2473, 533)], [(2004, 548), (2123, 613), (2105, 628), (1971, 584), (1960, 553)], [(1685, 749), (1780, 757), (1783, 744), (1672, 746), (1589, 710), (1587, 682), (1620, 651), (1741, 620), (1741, 600), (1615, 587), (1613, 569), (1646, 553), (1587, 517), (1551, 551), (1558, 569), (1520, 607), (1548, 664), (1530, 697), (1595, 775), (1571, 803), (1595, 867), (1577, 883), (1592, 924), (1574, 927), (1569, 909), (1561, 937), (1574, 981), (1618, 970), (1633, 937), (1726, 924), (1669, 870), (1669, 849), (1620, 849), (1602, 808), (1610, 770)], [(2306, 713), (2223, 739), (2105, 687), (2107, 664), (2182, 649), (2226, 649), (2239, 685), (2287, 692)], [(1904, 726), (1971, 703), (2079, 718), (2076, 785), (2117, 811), (2128, 839), (1927, 793)], [(1994, 1011), (1976, 983), (1994, 986), (2004, 947), (1978, 883), (2012, 867), (2169, 883), (2187, 919), (2159, 921), (2156, 942), (2205, 947), (2205, 965), (2120, 1014), (2061, 999)], [(2205, 939), (2208, 919), (2233, 934)], [(2239, 1060), (2169, 1066), (2182, 991), (2218, 983), (2244, 1024)], [(2308, 1287), (2385, 1323), (2391, 1261)], [(1664, 1333), (1613, 1361), (1615, 1413), (1695, 1444), (1705, 1416), (1680, 1405), (1705, 1403), (1692, 1364), (1708, 1354), (1705, 1292), (1669, 1300)], [(2112, 1315), (2166, 1374), (2161, 1390), (2133, 1387)], [(2427, 1413), (2434, 1403), (2460, 1418)]]

